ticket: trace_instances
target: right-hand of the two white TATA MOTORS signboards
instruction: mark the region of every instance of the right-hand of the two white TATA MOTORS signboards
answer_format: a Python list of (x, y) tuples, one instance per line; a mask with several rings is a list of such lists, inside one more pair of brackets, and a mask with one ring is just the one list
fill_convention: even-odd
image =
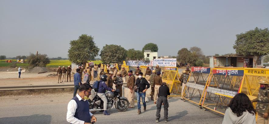
[(153, 66), (159, 65), (160, 67), (176, 67), (177, 59), (154, 59)]

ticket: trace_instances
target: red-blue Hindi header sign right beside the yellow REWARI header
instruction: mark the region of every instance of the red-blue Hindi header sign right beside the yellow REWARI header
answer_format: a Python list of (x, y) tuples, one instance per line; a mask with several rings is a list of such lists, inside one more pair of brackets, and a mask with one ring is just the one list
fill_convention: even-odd
[(217, 75), (232, 75), (232, 76), (243, 76), (244, 69), (226, 69), (226, 68), (213, 68), (213, 74)]

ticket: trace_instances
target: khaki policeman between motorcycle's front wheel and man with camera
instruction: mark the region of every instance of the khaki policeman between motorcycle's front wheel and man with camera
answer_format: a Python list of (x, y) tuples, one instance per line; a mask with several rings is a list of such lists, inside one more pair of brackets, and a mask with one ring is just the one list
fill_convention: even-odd
[(128, 72), (129, 79), (127, 81), (127, 88), (129, 89), (127, 92), (127, 99), (130, 103), (129, 108), (134, 108), (134, 90), (135, 90), (135, 82), (136, 82), (136, 77), (133, 75), (133, 70), (129, 70)]

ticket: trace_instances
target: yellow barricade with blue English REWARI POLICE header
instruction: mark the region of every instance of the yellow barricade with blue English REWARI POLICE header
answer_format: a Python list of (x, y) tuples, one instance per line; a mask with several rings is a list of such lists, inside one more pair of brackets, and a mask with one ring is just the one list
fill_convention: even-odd
[(181, 96), (181, 85), (177, 67), (164, 67), (162, 81), (167, 83), (170, 89), (170, 96)]

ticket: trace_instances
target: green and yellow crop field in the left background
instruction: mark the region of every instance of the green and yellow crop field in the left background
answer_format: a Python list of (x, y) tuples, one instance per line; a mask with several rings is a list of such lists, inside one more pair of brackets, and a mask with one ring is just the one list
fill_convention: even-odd
[[(12, 60), (12, 63), (16, 62), (16, 60)], [(27, 62), (27, 60), (26, 60)], [(92, 61), (95, 64), (102, 63), (102, 61)], [(9, 67), (12, 63), (5, 63), (5, 60), (0, 60), (0, 67)], [(46, 66), (49, 68), (59, 67), (59, 66), (68, 66), (71, 65), (71, 62), (69, 60), (50, 60), (50, 63)], [(22, 66), (22, 68), (26, 68), (29, 66), (28, 63), (17, 63), (17, 67)]]

